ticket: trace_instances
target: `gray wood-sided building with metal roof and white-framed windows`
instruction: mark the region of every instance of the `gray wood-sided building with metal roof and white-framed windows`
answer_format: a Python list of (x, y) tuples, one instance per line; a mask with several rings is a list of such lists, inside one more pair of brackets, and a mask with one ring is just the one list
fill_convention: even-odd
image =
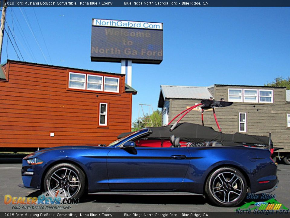
[[(163, 125), (201, 99), (234, 102), (230, 107), (216, 108), (215, 112), (223, 133), (269, 136), (275, 147), (290, 152), (290, 90), (281, 87), (219, 85), (186, 87), (161, 85), (158, 107), (162, 108)], [(201, 112), (191, 111), (183, 122), (201, 124)], [(218, 131), (212, 111), (204, 113), (205, 126)]]

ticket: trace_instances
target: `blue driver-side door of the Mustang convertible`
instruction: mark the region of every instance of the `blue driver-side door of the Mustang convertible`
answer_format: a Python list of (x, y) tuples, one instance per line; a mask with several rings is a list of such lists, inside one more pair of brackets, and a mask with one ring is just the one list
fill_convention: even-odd
[(115, 147), (108, 153), (111, 190), (175, 190), (190, 162), (187, 147)]

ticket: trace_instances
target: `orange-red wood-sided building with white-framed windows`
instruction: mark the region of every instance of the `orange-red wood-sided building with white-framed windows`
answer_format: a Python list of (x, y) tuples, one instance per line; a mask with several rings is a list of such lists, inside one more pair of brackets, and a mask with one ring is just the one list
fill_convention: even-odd
[(108, 144), (131, 131), (137, 91), (124, 74), (11, 60), (0, 68), (1, 150)]

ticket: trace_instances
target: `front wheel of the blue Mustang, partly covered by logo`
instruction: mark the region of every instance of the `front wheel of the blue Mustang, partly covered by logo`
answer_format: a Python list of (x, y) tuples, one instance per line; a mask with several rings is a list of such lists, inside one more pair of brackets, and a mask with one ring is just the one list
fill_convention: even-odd
[(44, 191), (63, 190), (70, 198), (80, 198), (85, 193), (85, 174), (74, 164), (59, 163), (48, 170), (43, 181)]

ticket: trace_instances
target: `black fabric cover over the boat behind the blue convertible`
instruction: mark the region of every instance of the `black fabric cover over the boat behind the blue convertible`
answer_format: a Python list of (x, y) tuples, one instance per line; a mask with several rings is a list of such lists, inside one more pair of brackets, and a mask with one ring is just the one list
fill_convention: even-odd
[[(255, 136), (246, 135), (241, 133), (235, 134), (224, 134), (215, 131), (212, 127), (206, 127), (199, 124), (193, 123), (179, 123), (170, 131), (172, 125), (163, 127), (148, 127), (152, 130), (152, 134), (147, 136), (147, 139), (155, 140), (169, 140), (171, 135), (180, 137), (181, 140), (189, 142), (204, 142), (204, 141), (226, 141), (226, 142), (236, 142), (243, 144), (262, 144), (268, 146), (269, 137), (267, 136)], [(122, 138), (130, 133), (122, 133), (118, 138)], [(272, 144), (272, 141), (271, 141)]]

